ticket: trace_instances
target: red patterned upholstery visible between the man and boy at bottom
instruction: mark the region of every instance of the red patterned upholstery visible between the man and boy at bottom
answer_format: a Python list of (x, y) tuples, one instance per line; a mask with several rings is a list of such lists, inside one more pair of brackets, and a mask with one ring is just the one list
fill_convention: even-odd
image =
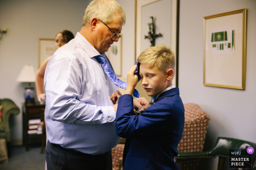
[(124, 144), (117, 144), (117, 146), (112, 149), (113, 170), (122, 169), (122, 164), (120, 166), (120, 163), (123, 162), (123, 152), (124, 152)]

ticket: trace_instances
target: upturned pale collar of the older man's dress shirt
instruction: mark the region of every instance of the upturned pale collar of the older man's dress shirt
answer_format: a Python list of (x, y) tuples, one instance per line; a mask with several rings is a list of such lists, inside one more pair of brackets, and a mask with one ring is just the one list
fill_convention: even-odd
[[(93, 58), (97, 55), (101, 55), (92, 45), (91, 43), (89, 43), (89, 41), (86, 40), (86, 38), (84, 38), (82, 36), (82, 34), (80, 34), (80, 32), (76, 33), (75, 36), (75, 40), (80, 44), (80, 46), (83, 47), (84, 51), (88, 54), (88, 56), (90, 58)], [(102, 54), (103, 56), (105, 56), (105, 53), (103, 52)]]

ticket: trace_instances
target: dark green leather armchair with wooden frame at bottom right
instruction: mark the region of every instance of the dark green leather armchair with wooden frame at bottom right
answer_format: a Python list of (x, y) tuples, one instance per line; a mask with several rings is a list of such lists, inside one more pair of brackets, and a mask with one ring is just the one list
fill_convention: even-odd
[[(237, 151), (246, 152), (248, 147), (253, 147), (256, 149), (256, 143), (243, 141), (240, 139), (234, 138), (225, 138), (225, 137), (218, 137), (215, 145), (210, 151), (207, 152), (196, 152), (196, 153), (184, 153), (179, 152), (176, 158), (216, 158), (219, 157), (218, 162), (218, 170), (223, 169), (223, 163), (225, 162), (225, 157), (229, 158), (229, 149), (236, 149)], [(246, 163), (246, 162), (245, 162)], [(249, 164), (250, 165), (250, 164)], [(256, 152), (252, 154), (252, 169), (256, 170)], [(243, 167), (244, 168), (244, 167)]]

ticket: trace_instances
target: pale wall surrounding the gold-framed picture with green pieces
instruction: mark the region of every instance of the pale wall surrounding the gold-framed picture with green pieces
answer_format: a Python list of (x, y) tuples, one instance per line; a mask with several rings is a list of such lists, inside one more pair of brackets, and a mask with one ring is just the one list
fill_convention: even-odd
[[(248, 9), (246, 90), (203, 86), (203, 17)], [(179, 88), (184, 103), (193, 102), (210, 116), (205, 149), (217, 137), (256, 143), (256, 1), (181, 0)], [(204, 169), (217, 169), (215, 163)], [(215, 167), (215, 168), (213, 168)]]

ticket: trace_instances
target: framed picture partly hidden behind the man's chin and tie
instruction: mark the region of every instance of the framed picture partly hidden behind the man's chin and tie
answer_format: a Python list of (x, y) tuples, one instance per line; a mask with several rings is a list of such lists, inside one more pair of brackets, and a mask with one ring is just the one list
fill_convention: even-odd
[[(123, 35), (120, 35), (123, 38)], [(114, 42), (108, 52), (106, 52), (116, 76), (120, 77), (122, 76), (122, 38), (119, 38), (117, 42)]]

